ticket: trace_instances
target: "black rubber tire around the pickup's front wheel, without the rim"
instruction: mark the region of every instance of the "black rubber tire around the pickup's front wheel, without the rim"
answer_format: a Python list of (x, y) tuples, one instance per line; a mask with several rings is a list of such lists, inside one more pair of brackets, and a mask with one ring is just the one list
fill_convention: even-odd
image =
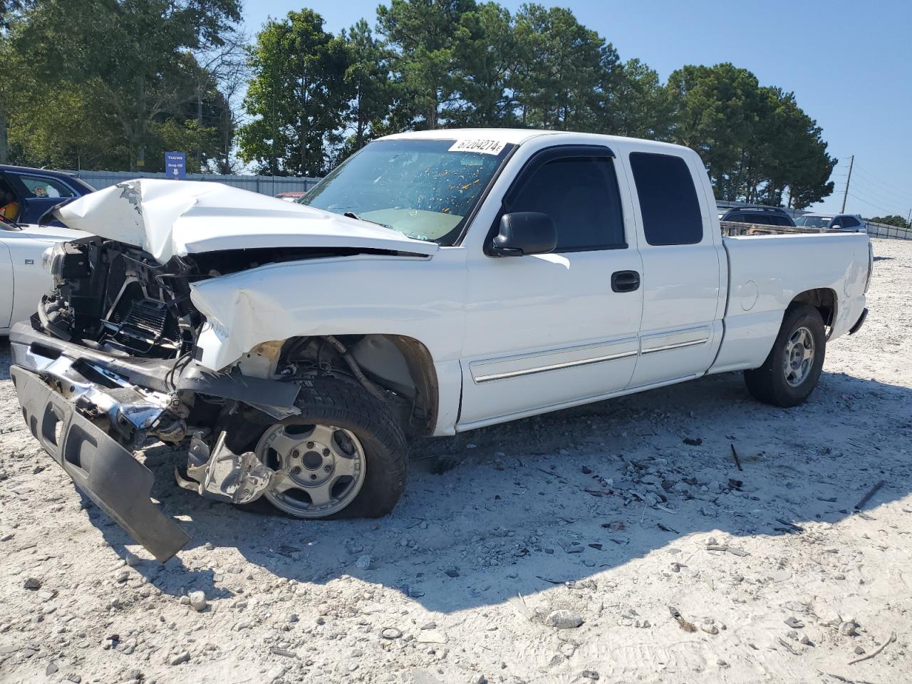
[[(366, 474), (354, 499), (345, 508), (326, 515), (298, 514), (279, 505), (276, 508), (295, 517), (308, 519), (378, 518), (388, 514), (405, 489), (409, 465), (409, 445), (399, 421), (380, 399), (354, 382), (337, 378), (308, 378), (301, 381), (295, 406), (300, 415), (281, 421), (283, 426), (328, 425), (357, 438), (366, 461)], [(267, 428), (275, 430), (277, 426)], [(254, 440), (248, 448), (258, 440)]]

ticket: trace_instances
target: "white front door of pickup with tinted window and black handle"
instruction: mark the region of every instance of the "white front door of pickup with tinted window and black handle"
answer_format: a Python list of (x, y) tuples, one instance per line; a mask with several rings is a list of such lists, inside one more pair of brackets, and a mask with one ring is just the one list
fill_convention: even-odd
[[(616, 161), (602, 146), (546, 148), (506, 192), (506, 212), (544, 212), (552, 254), (467, 254), (468, 306), (457, 429), (625, 389), (643, 308), (637, 236)], [(620, 276), (620, 277), (619, 277)]]

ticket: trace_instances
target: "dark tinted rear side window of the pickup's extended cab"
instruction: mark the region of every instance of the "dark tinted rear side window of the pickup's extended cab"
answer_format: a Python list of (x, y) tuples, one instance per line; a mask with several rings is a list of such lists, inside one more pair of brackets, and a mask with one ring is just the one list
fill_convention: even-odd
[(647, 243), (702, 242), (700, 199), (687, 162), (671, 154), (631, 152), (630, 170)]

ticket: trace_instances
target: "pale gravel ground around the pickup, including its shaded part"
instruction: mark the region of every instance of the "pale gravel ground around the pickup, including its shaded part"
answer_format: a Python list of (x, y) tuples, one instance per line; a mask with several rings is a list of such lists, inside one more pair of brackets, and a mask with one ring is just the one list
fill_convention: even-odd
[(378, 521), (208, 502), (151, 448), (165, 565), (38, 448), (0, 343), (0, 681), (907, 682), (912, 243), (875, 250), (804, 406), (728, 374), (422, 441)]

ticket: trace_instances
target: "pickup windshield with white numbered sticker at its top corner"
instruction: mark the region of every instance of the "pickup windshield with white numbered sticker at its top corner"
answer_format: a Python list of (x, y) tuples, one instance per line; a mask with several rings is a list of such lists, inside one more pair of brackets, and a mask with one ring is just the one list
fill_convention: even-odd
[(371, 142), (298, 202), (354, 213), (416, 240), (451, 245), (513, 148), (487, 140), (478, 141), (487, 146), (467, 142), (474, 141)]

